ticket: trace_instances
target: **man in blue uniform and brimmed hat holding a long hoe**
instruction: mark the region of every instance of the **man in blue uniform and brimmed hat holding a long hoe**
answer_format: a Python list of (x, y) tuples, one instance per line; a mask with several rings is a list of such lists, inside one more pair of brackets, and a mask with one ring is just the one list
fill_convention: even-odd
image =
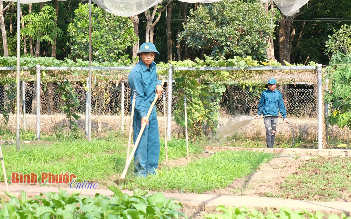
[[(155, 94), (160, 96), (163, 88), (157, 79), (156, 64), (153, 61), (156, 56), (160, 55), (155, 45), (152, 43), (141, 44), (137, 55), (140, 60), (128, 75), (131, 90), (135, 89), (138, 92), (133, 117), (134, 144), (141, 125), (146, 122), (146, 126), (134, 154), (134, 172), (137, 177), (146, 177), (148, 174), (155, 174), (160, 155), (160, 136), (155, 106), (149, 119), (146, 119), (146, 115), (155, 99)], [(131, 100), (132, 96), (131, 92)]]

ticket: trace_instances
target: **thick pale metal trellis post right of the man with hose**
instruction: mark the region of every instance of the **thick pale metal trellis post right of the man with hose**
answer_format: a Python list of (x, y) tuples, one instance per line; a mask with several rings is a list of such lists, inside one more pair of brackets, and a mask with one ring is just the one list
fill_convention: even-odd
[(322, 64), (317, 64), (317, 78), (318, 78), (318, 149), (323, 148), (323, 132), (322, 132), (322, 116), (323, 116), (323, 100), (322, 100)]

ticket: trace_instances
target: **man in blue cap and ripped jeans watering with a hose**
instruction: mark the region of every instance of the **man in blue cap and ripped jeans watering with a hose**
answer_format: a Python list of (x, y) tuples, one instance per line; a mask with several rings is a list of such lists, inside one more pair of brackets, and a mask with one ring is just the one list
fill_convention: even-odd
[(273, 148), (274, 145), (279, 111), (284, 118), (284, 122), (287, 122), (286, 110), (283, 102), (282, 93), (280, 93), (280, 91), (277, 90), (276, 87), (277, 80), (275, 80), (274, 78), (270, 78), (268, 80), (268, 89), (262, 92), (261, 99), (258, 104), (258, 112), (257, 115), (254, 116), (255, 119), (258, 119), (258, 117), (262, 113), (264, 116), (272, 115), (264, 117), (263, 119), (266, 127), (266, 142), (268, 148)]

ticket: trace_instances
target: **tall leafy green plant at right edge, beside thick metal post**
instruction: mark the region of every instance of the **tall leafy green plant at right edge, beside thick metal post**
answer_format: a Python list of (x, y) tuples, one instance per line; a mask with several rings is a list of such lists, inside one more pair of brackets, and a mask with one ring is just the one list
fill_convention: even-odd
[(326, 43), (326, 54), (330, 55), (330, 64), (326, 68), (330, 93), (325, 100), (331, 103), (331, 125), (351, 128), (351, 27), (343, 25)]

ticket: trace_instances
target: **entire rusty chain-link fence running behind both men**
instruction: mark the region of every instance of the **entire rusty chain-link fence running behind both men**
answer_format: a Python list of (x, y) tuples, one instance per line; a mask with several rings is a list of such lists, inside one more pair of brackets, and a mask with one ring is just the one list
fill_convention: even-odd
[[(274, 77), (274, 75), (272, 75)], [(73, 79), (73, 80), (72, 80)], [(75, 107), (80, 119), (77, 121), (79, 129), (85, 130), (85, 114), (86, 114), (86, 81), (79, 78), (70, 77), (74, 93), (77, 95), (79, 105)], [(124, 83), (124, 86), (122, 85)], [(21, 87), (25, 86), (25, 104), (26, 104), (26, 128), (35, 130), (36, 128), (36, 82), (21, 82)], [(122, 96), (122, 88), (124, 87), (124, 96)], [(41, 84), (41, 111), (40, 126), (41, 132), (54, 133), (67, 129), (69, 120), (62, 110), (64, 100), (61, 93), (57, 92), (57, 82), (45, 82)], [(313, 83), (298, 82), (295, 84), (278, 84), (277, 89), (281, 91), (286, 107), (287, 117), (291, 123), (296, 141), (317, 142), (317, 86)], [(164, 90), (166, 100), (168, 98), (168, 90), (165, 84)], [(16, 89), (13, 85), (0, 85), (0, 104), (5, 108), (6, 103), (11, 106), (9, 108), (10, 122), (9, 128), (15, 130), (15, 101)], [(118, 81), (116, 79), (94, 80), (92, 84), (92, 133), (98, 136), (107, 134), (109, 131), (118, 131), (121, 129), (122, 123), (125, 127), (129, 127), (130, 111), (131, 111), (131, 89), (127, 81)], [(21, 100), (22, 100), (21, 88)], [(226, 91), (220, 101), (219, 123), (223, 124), (230, 121), (238, 115), (257, 114), (258, 103), (261, 91), (256, 89), (244, 88), (242, 85), (226, 85)], [(172, 96), (172, 112), (176, 107), (176, 96)], [(121, 103), (124, 99), (124, 105)], [(167, 100), (168, 101), (168, 100)], [(20, 127), (23, 128), (23, 110), (21, 101), (20, 105)], [(166, 106), (167, 107), (167, 106)], [(124, 110), (124, 115), (121, 115)], [(163, 98), (159, 98), (156, 103), (156, 111), (159, 116), (160, 135), (164, 134), (163, 120)], [(125, 128), (124, 130), (128, 130)], [(179, 132), (180, 127), (172, 121), (171, 132)], [(331, 138), (341, 141), (347, 141), (349, 130), (340, 130), (337, 127), (330, 129)], [(239, 131), (241, 137), (247, 139), (264, 139), (265, 128), (262, 120), (254, 120), (244, 129)], [(277, 140), (287, 142), (292, 138), (290, 127), (281, 119), (278, 122)], [(331, 142), (332, 143), (332, 142)], [(332, 143), (333, 144), (333, 143)]]

